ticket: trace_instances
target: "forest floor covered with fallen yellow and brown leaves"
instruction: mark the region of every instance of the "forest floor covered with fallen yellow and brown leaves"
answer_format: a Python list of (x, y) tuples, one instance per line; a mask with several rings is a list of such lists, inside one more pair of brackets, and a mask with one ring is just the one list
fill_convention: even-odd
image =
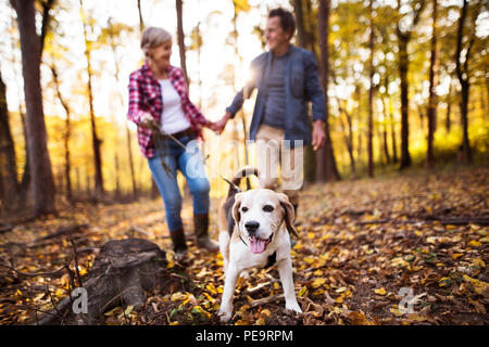
[[(291, 250), (303, 313), (285, 310), (275, 268), (258, 269), (238, 281), (230, 323), (488, 324), (488, 168), (466, 168), (304, 189)], [(217, 205), (213, 200), (214, 240)], [(190, 235), (188, 200), (183, 218)], [(18, 223), (0, 239), (0, 324), (33, 323), (36, 312), (67, 295), (68, 274), (55, 270), (73, 259), (68, 235), (82, 277), (109, 240), (141, 237), (172, 249), (160, 200), (78, 204)], [(168, 271), (179, 281), (148, 293), (142, 307), (105, 312), (103, 323), (221, 324), (222, 257), (189, 244), (185, 268), (167, 252)]]

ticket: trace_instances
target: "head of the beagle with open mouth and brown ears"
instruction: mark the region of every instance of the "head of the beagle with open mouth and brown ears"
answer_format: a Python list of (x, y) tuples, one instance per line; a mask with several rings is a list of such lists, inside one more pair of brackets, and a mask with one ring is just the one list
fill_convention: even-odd
[(241, 237), (249, 241), (250, 249), (254, 254), (266, 249), (284, 221), (287, 230), (297, 235), (292, 204), (287, 195), (268, 189), (254, 189), (236, 194), (233, 218)]

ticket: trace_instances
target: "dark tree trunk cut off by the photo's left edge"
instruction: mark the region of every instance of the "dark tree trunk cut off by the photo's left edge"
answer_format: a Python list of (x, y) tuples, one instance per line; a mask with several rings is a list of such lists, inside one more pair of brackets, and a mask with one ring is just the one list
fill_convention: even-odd
[[(13, 210), (17, 206), (18, 182), (15, 147), (9, 124), (9, 108), (7, 105), (7, 89), (0, 70), (0, 184), (2, 194), (1, 207)], [(1, 208), (0, 208), (1, 209)]]

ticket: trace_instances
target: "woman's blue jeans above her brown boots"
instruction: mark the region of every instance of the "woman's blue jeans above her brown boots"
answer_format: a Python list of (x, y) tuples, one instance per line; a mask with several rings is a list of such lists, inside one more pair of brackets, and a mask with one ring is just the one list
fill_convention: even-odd
[(184, 227), (180, 217), (181, 194), (177, 183), (177, 170), (180, 170), (187, 179), (193, 198), (193, 214), (208, 214), (210, 203), (209, 180), (197, 141), (191, 137), (183, 137), (178, 140), (186, 145), (186, 149), (171, 139), (165, 139), (159, 144), (156, 155), (148, 159), (151, 174), (163, 197), (170, 232)]

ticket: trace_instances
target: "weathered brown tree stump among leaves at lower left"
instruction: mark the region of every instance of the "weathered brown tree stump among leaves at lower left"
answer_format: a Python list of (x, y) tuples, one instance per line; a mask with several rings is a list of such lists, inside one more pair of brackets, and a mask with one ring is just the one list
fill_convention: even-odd
[(116, 306), (138, 307), (145, 304), (145, 292), (161, 286), (165, 278), (165, 252), (156, 244), (142, 239), (109, 241), (100, 249), (88, 279), (83, 283), (87, 293), (87, 312), (74, 312), (77, 296), (72, 295), (36, 324), (95, 324), (104, 311)]

